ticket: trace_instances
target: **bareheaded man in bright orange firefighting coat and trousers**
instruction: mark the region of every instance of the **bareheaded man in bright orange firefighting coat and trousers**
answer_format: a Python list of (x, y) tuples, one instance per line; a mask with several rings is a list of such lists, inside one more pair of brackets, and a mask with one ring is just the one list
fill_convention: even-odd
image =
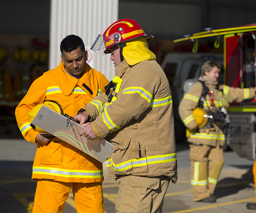
[(16, 108), (20, 132), (37, 144), (32, 170), (32, 179), (38, 181), (33, 213), (61, 213), (71, 188), (78, 213), (104, 213), (102, 163), (49, 133), (36, 131), (28, 116), (38, 104), (54, 101), (64, 114), (73, 117), (104, 93), (108, 80), (86, 63), (87, 58), (80, 37), (65, 37), (61, 63), (36, 79)]

